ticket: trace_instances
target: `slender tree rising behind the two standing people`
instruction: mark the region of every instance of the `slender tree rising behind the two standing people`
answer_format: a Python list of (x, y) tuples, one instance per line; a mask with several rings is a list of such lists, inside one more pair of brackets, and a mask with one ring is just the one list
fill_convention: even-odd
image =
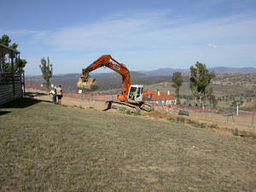
[(49, 61), (49, 56), (47, 57), (47, 61), (44, 57), (41, 59), (41, 65), (39, 67), (43, 74), (44, 84), (49, 86), (49, 79), (51, 79), (53, 74), (53, 65)]

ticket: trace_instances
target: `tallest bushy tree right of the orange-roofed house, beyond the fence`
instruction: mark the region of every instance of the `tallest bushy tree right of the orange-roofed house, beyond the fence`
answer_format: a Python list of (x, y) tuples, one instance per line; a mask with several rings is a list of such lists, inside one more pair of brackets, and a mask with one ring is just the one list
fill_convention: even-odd
[(199, 103), (206, 97), (211, 98), (213, 91), (209, 84), (215, 77), (216, 75), (209, 73), (206, 65), (201, 62), (197, 61), (195, 67), (190, 67), (190, 89)]

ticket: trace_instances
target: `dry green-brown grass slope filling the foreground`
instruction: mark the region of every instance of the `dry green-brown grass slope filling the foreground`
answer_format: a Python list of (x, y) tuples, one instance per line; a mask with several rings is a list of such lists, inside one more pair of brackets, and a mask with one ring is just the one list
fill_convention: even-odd
[(256, 191), (254, 138), (28, 98), (0, 138), (0, 191)]

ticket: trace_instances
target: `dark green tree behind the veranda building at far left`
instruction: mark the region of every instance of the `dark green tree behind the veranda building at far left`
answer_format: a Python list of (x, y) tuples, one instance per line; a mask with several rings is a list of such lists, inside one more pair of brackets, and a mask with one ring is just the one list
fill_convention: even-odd
[[(9, 38), (8, 35), (4, 34), (2, 38), (0, 38), (0, 44), (3, 44), (15, 50), (18, 48), (18, 44), (14, 43), (10, 45), (10, 43), (11, 43), (11, 39)], [(11, 58), (11, 55), (9, 55), (9, 58)], [(15, 72), (23, 72), (24, 71), (23, 68), (26, 67), (26, 63), (27, 61), (24, 59), (15, 58), (15, 63), (14, 63)], [(5, 56), (3, 56), (3, 71), (4, 72), (12, 71), (10, 61)]]

